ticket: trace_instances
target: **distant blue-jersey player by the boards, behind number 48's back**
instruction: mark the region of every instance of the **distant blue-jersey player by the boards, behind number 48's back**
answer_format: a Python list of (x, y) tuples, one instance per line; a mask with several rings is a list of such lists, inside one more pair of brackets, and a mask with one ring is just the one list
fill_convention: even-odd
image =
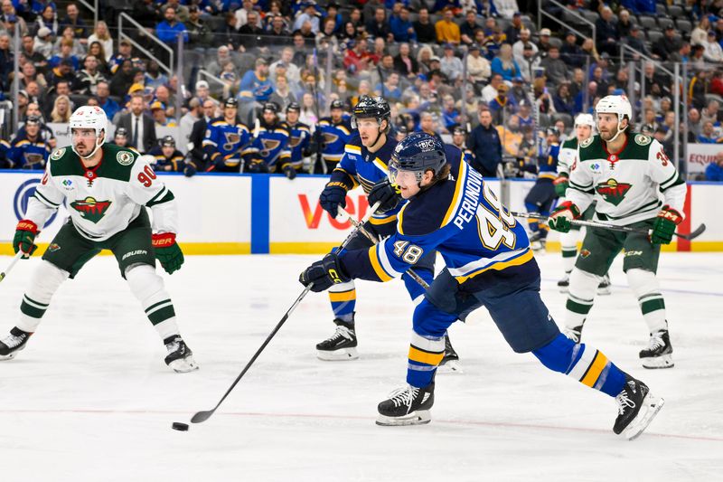
[[(545, 135), (545, 149), (538, 156), (537, 165), (530, 166), (537, 174), (537, 181), (525, 196), (525, 209), (528, 213), (549, 216), (552, 203), (558, 198), (554, 182), (558, 177), (559, 131), (557, 128), (548, 128)], [(547, 224), (530, 220), (530, 231), (530, 241), (537, 241), (540, 249), (544, 248), (549, 232)]]

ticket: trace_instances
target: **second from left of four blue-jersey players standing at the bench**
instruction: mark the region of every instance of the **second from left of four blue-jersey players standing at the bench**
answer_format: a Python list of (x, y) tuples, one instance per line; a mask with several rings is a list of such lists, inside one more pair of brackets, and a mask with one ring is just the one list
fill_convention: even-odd
[(289, 179), (296, 177), (288, 149), (288, 129), (278, 119), (278, 106), (266, 102), (261, 110), (258, 126), (254, 128), (251, 144), (244, 150), (249, 173), (283, 173)]

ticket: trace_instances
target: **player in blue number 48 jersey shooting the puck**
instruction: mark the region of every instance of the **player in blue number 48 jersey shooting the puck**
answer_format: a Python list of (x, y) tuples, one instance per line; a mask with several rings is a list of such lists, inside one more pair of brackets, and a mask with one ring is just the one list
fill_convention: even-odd
[[(299, 281), (324, 291), (351, 279), (387, 281), (426, 253), (437, 250), (444, 269), (415, 307), (407, 383), (380, 402), (380, 425), (431, 420), (435, 373), (444, 354), (443, 336), (457, 318), (486, 307), (516, 353), (532, 353), (550, 370), (568, 374), (615, 397), (613, 430), (634, 439), (662, 408), (647, 385), (621, 371), (590, 345), (559, 332), (540, 298), (540, 269), (527, 235), (502, 206), (482, 175), (449, 158), (434, 137), (415, 133), (394, 149), (389, 178), (408, 203), (397, 230), (368, 250), (330, 253), (304, 270)], [(380, 196), (392, 208), (394, 190)]]

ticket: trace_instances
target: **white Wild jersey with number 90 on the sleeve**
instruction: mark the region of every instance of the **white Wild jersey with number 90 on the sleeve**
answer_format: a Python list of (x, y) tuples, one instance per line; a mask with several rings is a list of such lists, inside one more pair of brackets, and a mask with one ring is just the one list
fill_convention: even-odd
[(178, 232), (174, 194), (136, 151), (112, 144), (100, 147), (99, 165), (86, 169), (70, 147), (49, 157), (41, 184), (30, 198), (26, 219), (41, 229), (65, 202), (70, 220), (91, 241), (105, 241), (125, 230), (146, 205), (154, 232)]

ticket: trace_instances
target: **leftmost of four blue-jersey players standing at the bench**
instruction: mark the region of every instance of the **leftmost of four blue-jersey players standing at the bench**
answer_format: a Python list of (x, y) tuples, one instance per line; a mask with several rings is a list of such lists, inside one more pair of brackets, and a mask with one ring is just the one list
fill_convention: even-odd
[(223, 116), (209, 122), (202, 144), (209, 162), (207, 171), (238, 173), (243, 170), (241, 160), (251, 135), (239, 120), (238, 111), (239, 101), (231, 97), (223, 103)]

